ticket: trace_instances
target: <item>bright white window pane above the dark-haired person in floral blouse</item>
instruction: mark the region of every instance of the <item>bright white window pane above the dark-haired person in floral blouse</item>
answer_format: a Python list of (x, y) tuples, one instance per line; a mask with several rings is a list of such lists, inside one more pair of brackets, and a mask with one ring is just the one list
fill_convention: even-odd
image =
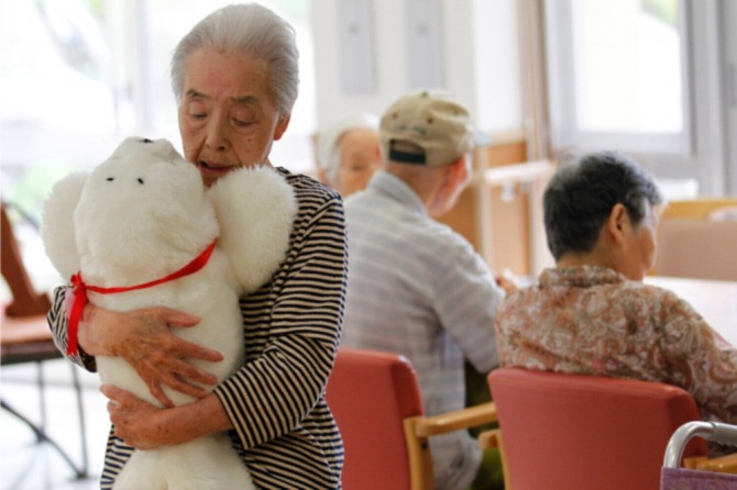
[(691, 151), (680, 0), (558, 0), (547, 13), (558, 147)]

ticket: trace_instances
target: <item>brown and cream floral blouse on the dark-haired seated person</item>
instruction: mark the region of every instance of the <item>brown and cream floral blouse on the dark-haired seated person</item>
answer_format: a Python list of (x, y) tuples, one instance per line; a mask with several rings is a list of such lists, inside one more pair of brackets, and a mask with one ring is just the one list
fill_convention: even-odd
[(704, 420), (737, 423), (737, 349), (673, 292), (613, 269), (544, 270), (496, 315), (503, 366), (679, 386)]

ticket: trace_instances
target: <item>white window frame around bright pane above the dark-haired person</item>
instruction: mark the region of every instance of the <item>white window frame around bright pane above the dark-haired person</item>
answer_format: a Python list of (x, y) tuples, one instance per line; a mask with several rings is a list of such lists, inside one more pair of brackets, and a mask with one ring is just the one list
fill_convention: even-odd
[[(629, 153), (659, 179), (693, 179), (698, 194), (724, 196), (737, 192), (737, 174), (727, 164), (730, 130), (727, 121), (728, 98), (723, 74), (725, 73), (725, 31), (730, 24), (724, 16), (737, 16), (737, 9), (726, 9), (725, 0), (682, 0), (683, 49), (686, 57), (682, 67), (683, 96), (685, 98), (683, 140), (670, 141), (653, 134), (591, 133), (571, 131), (575, 112), (571, 108), (574, 90), (563, 90), (570, 83), (571, 68), (565, 63), (571, 57), (571, 33), (563, 29), (563, 21), (571, 18), (571, 0), (539, 0), (543, 3), (544, 55), (548, 83), (548, 111), (551, 152), (581, 153), (593, 149), (618, 149)], [(728, 1), (728, 0), (726, 0)], [(568, 41), (566, 41), (568, 38)], [(565, 51), (568, 47), (569, 52)], [(737, 46), (735, 46), (737, 48)], [(570, 66), (570, 65), (569, 65)], [(568, 80), (568, 81), (566, 81)], [(735, 132), (734, 127), (732, 129)], [(645, 141), (645, 140), (650, 141)], [(737, 149), (733, 153), (737, 154)], [(737, 164), (732, 164), (735, 167)]]

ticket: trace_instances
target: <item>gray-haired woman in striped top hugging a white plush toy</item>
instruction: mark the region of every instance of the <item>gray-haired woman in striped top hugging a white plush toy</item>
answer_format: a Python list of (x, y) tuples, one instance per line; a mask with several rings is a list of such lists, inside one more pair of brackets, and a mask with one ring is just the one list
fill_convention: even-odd
[[(343, 315), (342, 201), (327, 186), (270, 160), (272, 145), (289, 125), (298, 81), (293, 27), (256, 3), (215, 11), (175, 49), (172, 85), (184, 153), (205, 185), (241, 167), (267, 167), (293, 187), (298, 210), (286, 259), (266, 285), (240, 299), (245, 363), (211, 392), (201, 383), (213, 385), (215, 376), (189, 360), (219, 361), (220, 353), (170, 332), (196, 327), (199, 319), (163, 307), (121, 313), (87, 303), (76, 332), (78, 352), (68, 357), (89, 370), (96, 356), (121, 357), (161, 403), (103, 387), (113, 427), (102, 489), (116, 486), (133, 452), (217, 432), (230, 435), (257, 488), (341, 487), (343, 447), (324, 387)], [(64, 353), (75, 335), (66, 311), (70, 290), (57, 288), (48, 314)], [(163, 386), (197, 400), (173, 407)]]

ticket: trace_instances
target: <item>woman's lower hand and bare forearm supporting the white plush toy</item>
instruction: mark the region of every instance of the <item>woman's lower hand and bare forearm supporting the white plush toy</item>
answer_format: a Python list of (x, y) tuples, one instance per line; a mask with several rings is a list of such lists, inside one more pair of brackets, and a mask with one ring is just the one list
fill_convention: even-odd
[(116, 435), (136, 449), (173, 446), (232, 427), (215, 394), (160, 409), (112, 385), (102, 385), (100, 391), (109, 399), (108, 413)]

